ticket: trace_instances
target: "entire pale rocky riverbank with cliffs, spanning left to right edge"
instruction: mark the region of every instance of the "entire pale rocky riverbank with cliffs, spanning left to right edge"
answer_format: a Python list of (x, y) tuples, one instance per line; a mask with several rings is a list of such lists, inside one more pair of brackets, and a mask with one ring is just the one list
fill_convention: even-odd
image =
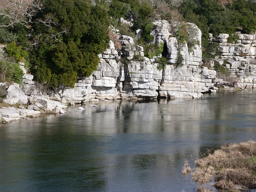
[[(192, 47), (187, 42), (180, 44), (172, 36), (166, 20), (157, 20), (154, 25), (151, 32), (153, 43), (162, 46), (162, 54), (148, 58), (144, 48), (136, 45), (136, 38), (120, 35), (118, 30), (112, 29), (114, 38), (99, 55), (98, 69), (90, 77), (78, 77), (74, 88), (50, 90), (46, 85), (35, 82), (34, 76), (28, 74), (24, 63), (20, 62), (23, 82), (20, 85), (1, 83), (1, 91), (6, 91), (3, 102), (32, 106), (27, 109), (32, 110), (27, 112), (30, 116), (38, 111), (36, 108), (41, 112), (63, 113), (62, 108), (68, 105), (95, 99), (200, 98), (204, 92), (254, 88), (256, 35), (239, 34), (237, 44), (227, 42), (228, 34), (220, 34), (217, 38), (210, 36), (211, 41), (219, 43), (221, 58), (216, 58), (210, 66), (204, 66), (201, 31), (195, 24), (186, 24), (189, 39), (196, 42)], [(140, 33), (138, 30), (137, 36)], [(166, 63), (161, 64), (160, 58), (164, 58)], [(228, 69), (230, 77), (216, 76), (215, 64)], [(17, 110), (19, 112), (15, 111), (13, 118), (19, 118), (17, 114), (22, 113)], [(10, 117), (2, 114), (2, 118)]]

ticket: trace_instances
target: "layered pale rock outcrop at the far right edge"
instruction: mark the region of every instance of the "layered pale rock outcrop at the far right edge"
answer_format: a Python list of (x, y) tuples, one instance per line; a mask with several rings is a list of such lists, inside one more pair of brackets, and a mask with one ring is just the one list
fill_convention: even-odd
[(228, 43), (228, 34), (219, 34), (210, 40), (218, 42), (221, 54), (214, 64), (230, 70), (230, 77), (215, 80), (215, 85), (226, 90), (254, 88), (256, 82), (256, 34), (237, 34), (236, 43)]

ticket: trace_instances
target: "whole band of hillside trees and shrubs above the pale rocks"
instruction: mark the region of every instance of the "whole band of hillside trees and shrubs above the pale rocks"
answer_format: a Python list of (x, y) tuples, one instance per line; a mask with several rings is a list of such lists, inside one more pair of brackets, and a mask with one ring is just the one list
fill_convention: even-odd
[[(142, 29), (136, 43), (150, 45), (155, 19), (168, 20), (170, 32), (180, 41), (188, 40), (185, 22), (196, 24), (207, 61), (218, 49), (208, 42), (209, 32), (228, 33), (233, 42), (236, 31), (256, 30), (255, 14), (254, 0), (1, 0), (0, 44), (7, 46), (0, 78), (20, 83), (19, 70), (7, 71), (25, 62), (35, 80), (53, 89), (74, 87), (78, 75), (90, 76), (96, 70), (98, 54), (110, 40), (110, 24), (132, 37)], [(133, 26), (122, 24), (121, 17), (132, 20)]]

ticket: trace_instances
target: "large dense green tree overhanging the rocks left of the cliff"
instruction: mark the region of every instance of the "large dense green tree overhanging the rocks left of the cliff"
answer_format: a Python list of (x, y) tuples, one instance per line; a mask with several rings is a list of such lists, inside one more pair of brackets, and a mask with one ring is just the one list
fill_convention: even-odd
[[(45, 29), (39, 48), (33, 50), (34, 74), (52, 88), (73, 87), (78, 75), (90, 76), (96, 70), (98, 54), (108, 45), (107, 10), (83, 0), (48, 0), (44, 5), (42, 17), (55, 13), (58, 25), (54, 30), (68, 32), (63, 32), (56, 42), (55, 37), (49, 38), (49, 29)], [(35, 31), (42, 32), (41, 27), (35, 26)]]

